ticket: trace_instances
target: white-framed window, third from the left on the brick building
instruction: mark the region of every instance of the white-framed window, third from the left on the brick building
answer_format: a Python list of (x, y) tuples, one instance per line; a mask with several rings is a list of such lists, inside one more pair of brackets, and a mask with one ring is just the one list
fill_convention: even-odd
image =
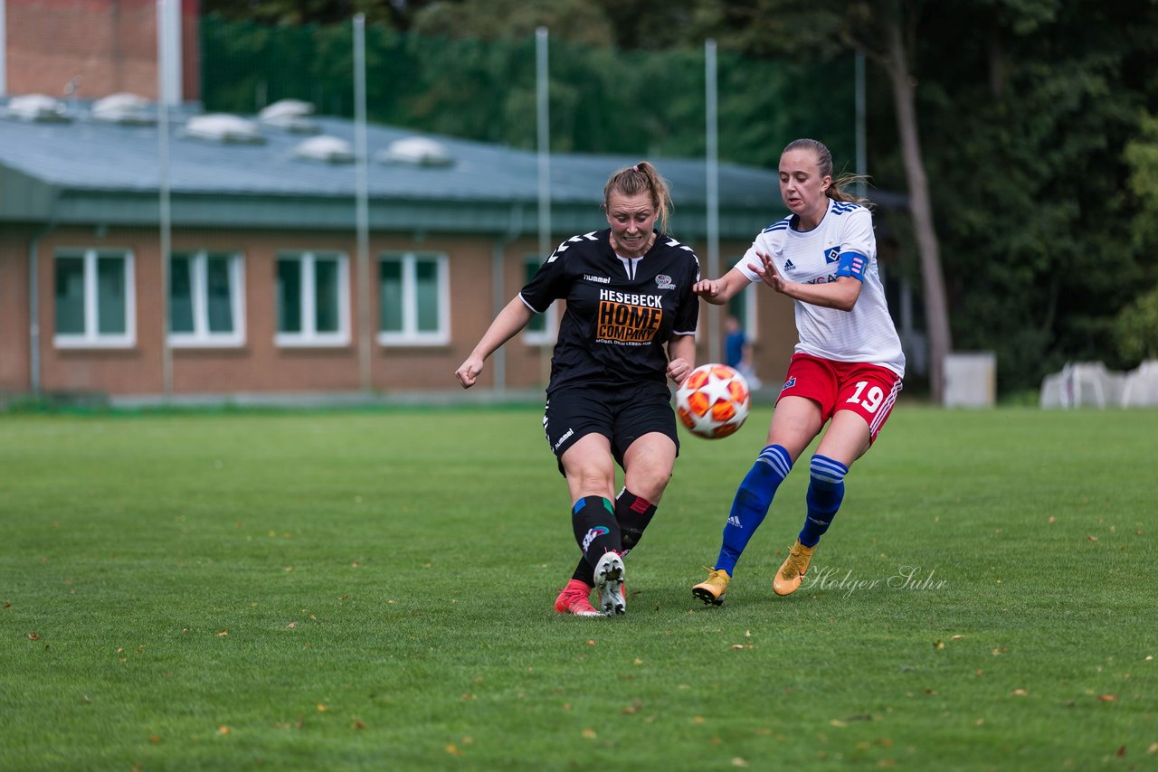
[(350, 343), (350, 267), (338, 252), (278, 256), (280, 346), (344, 346)]

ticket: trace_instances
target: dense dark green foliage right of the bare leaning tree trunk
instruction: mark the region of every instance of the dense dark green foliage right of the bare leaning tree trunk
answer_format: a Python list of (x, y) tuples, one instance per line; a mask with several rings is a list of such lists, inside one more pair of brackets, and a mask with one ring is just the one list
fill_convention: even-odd
[[(1121, 160), (1151, 44), (1121, 30), (1153, 32), (1152, 14), (1097, 2), (954, 9), (928, 28), (922, 111), (954, 332), (962, 347), (997, 352), (1006, 390), (1068, 360), (1120, 366), (1114, 318), (1152, 286)], [(960, 56), (939, 56), (952, 35)]]

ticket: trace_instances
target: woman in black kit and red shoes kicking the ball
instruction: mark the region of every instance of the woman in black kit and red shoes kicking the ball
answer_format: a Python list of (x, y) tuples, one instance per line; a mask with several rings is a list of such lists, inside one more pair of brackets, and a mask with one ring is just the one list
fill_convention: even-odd
[[(543, 427), (567, 481), (582, 557), (555, 610), (623, 613), (623, 558), (639, 543), (679, 454), (672, 394), (695, 366), (699, 259), (657, 229), (670, 194), (646, 161), (603, 188), (608, 228), (573, 236), (547, 258), (455, 372), (475, 385), (486, 359), (535, 314), (566, 301), (551, 356)], [(615, 465), (624, 485), (615, 494)], [(591, 604), (599, 593), (600, 608)]]

